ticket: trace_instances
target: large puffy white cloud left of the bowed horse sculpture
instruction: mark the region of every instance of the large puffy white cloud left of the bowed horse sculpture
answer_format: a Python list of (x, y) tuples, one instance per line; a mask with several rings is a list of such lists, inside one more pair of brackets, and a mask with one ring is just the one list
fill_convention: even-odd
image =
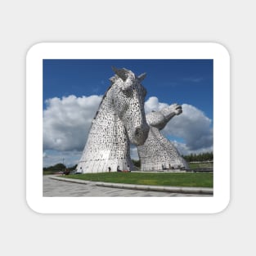
[(101, 96), (52, 98), (43, 110), (44, 150), (83, 150)]

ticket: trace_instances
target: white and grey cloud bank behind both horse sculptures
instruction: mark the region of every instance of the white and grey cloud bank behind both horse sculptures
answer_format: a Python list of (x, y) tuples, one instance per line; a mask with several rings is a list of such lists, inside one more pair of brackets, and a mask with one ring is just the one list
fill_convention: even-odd
[[(88, 137), (92, 118), (97, 112), (101, 96), (52, 98), (43, 110), (43, 162), (44, 166), (61, 163), (65, 158), (69, 166), (78, 162)], [(173, 102), (174, 103), (174, 102)], [(160, 110), (167, 103), (150, 97), (145, 112)], [(195, 106), (183, 104), (182, 114), (171, 119), (162, 131), (165, 137), (181, 137), (184, 143), (173, 141), (182, 155), (213, 149), (211, 120)], [(53, 151), (55, 153), (52, 153)], [(58, 153), (56, 153), (58, 152)], [(137, 148), (131, 148), (131, 158), (137, 159)]]

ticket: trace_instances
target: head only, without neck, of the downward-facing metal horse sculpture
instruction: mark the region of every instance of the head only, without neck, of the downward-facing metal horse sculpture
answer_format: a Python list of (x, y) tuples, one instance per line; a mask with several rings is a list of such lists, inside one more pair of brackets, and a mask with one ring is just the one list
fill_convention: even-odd
[(146, 88), (141, 85), (146, 74), (136, 76), (130, 70), (112, 67), (115, 76), (111, 81), (111, 98), (115, 113), (124, 124), (128, 138), (137, 146), (143, 145), (149, 132), (144, 111)]

